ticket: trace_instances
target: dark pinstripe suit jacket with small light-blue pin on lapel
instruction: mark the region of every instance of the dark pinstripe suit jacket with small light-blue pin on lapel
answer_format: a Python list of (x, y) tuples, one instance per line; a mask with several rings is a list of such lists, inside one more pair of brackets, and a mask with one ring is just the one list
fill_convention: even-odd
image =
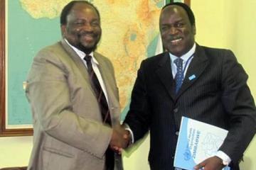
[(256, 109), (247, 74), (230, 50), (196, 45), (181, 89), (175, 94), (169, 53), (142, 62), (132, 91), (127, 123), (137, 141), (150, 130), (151, 169), (174, 169), (181, 117), (229, 130), (220, 150), (238, 168), (255, 135)]

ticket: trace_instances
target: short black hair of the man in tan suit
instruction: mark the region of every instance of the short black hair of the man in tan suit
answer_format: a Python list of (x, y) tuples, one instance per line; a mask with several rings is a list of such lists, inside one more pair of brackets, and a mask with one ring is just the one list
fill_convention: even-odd
[(95, 11), (100, 19), (100, 12), (97, 10), (96, 6), (94, 6), (92, 3), (88, 2), (88, 1), (70, 1), (70, 3), (68, 3), (67, 5), (64, 6), (63, 10), (60, 13), (60, 26), (67, 24), (67, 16), (76, 3), (84, 3), (89, 6), (92, 6), (92, 8), (95, 8)]

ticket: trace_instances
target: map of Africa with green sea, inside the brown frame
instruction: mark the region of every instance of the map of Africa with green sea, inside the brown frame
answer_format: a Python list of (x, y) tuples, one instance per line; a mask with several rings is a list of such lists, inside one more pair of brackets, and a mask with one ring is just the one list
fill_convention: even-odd
[[(36, 52), (60, 40), (60, 12), (69, 1), (8, 2), (9, 125), (31, 124), (31, 113), (21, 84), (26, 80)], [(109, 57), (114, 64), (124, 118), (140, 63), (156, 53), (159, 40), (159, 13), (164, 6), (164, 0), (90, 2), (100, 11), (102, 39), (97, 51)], [(17, 29), (17, 26), (22, 27)], [(16, 47), (15, 50), (13, 47)]]

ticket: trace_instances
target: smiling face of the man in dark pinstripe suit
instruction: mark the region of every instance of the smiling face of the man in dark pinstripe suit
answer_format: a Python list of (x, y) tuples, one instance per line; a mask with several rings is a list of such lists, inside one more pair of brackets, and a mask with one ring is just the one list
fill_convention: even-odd
[(159, 21), (164, 48), (181, 57), (195, 42), (196, 26), (191, 26), (186, 11), (181, 6), (167, 6), (161, 11)]

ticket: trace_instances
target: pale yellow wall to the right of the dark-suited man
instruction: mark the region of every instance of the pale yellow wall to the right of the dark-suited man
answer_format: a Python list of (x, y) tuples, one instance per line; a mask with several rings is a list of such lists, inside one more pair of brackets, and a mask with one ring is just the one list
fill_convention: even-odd
[[(224, 47), (233, 50), (238, 62), (249, 75), (248, 84), (256, 98), (256, 7), (255, 0), (191, 0), (196, 16), (196, 41), (210, 47)], [(256, 169), (256, 138), (245, 151), (240, 169)]]

